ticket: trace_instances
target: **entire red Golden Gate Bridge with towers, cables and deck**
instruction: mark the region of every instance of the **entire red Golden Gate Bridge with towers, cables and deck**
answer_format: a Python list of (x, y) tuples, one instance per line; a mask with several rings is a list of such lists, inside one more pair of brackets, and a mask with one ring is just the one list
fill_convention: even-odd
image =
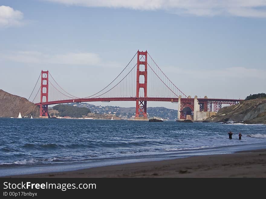
[[(40, 85), (40, 86), (38, 86)], [(135, 119), (147, 119), (148, 101), (168, 101), (178, 103), (178, 119), (186, 119), (197, 112), (217, 112), (222, 104), (237, 104), (240, 99), (191, 98), (185, 95), (164, 74), (147, 51), (137, 51), (119, 75), (99, 92), (76, 97), (64, 90), (51, 73), (41, 74), (31, 92), (29, 101), (40, 107), (40, 117), (48, 118), (48, 105), (71, 102), (93, 101), (135, 101)]]

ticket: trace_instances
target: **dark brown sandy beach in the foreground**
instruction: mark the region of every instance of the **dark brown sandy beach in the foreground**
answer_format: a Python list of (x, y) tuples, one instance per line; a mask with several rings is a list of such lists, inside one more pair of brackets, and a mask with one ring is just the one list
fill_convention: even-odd
[(9, 177), (266, 177), (266, 149)]

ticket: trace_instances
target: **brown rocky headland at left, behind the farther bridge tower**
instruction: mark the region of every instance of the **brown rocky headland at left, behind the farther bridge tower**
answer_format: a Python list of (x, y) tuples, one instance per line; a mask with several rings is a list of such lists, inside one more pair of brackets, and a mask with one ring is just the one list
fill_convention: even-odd
[(17, 118), (19, 112), (22, 117), (38, 118), (40, 109), (26, 98), (17, 95), (12, 95), (0, 89), (0, 117)]

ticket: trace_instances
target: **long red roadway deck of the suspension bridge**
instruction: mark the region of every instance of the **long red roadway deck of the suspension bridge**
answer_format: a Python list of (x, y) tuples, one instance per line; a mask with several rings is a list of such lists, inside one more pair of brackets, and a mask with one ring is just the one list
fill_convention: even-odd
[[(190, 101), (193, 102), (194, 98), (181, 98), (182, 101)], [(58, 100), (58, 101), (48, 101), (42, 103), (36, 103), (35, 105), (52, 105), (52, 104), (65, 104), (65, 103), (73, 103), (73, 102), (92, 102), (92, 101), (169, 101), (169, 102), (178, 102), (178, 98), (156, 98), (156, 97), (141, 97), (141, 98), (76, 98), (70, 100)], [(220, 103), (220, 104), (236, 104), (241, 99), (214, 99), (214, 98), (198, 98), (200, 103), (207, 102), (207, 103)]]

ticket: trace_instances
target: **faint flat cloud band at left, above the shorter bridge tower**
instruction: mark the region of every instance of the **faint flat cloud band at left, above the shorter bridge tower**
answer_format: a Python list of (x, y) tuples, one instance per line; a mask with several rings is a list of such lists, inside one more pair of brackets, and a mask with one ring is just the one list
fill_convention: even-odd
[(0, 59), (22, 63), (46, 63), (64, 65), (101, 65), (101, 59), (95, 53), (44, 54), (37, 51), (18, 51), (0, 54)]

